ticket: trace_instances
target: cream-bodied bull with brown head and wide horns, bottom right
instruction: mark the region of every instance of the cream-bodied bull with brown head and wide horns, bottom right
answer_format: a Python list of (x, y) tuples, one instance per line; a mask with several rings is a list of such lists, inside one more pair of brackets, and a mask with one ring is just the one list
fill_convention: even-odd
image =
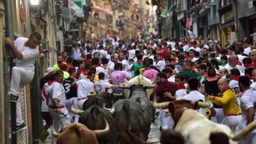
[(157, 104), (156, 97), (154, 97), (153, 106), (169, 109), (171, 116), (174, 118), (174, 131), (181, 133), (185, 143), (189, 144), (233, 144), (256, 128), (256, 121), (254, 121), (243, 131), (240, 131), (238, 135), (234, 135), (228, 126), (213, 123), (206, 116), (195, 111), (199, 107), (206, 108), (210, 106), (208, 102), (179, 100)]

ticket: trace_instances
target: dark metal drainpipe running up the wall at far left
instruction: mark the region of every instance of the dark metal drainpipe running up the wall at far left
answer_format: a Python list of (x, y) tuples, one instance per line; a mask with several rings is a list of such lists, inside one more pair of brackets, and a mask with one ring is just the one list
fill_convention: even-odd
[[(6, 37), (14, 40), (14, 26), (13, 26), (13, 14), (11, 8), (11, 1), (4, 1), (4, 17), (5, 17), (5, 31)], [(11, 133), (11, 131), (16, 131), (16, 103), (11, 103), (10, 106), (10, 96), (8, 94), (10, 90), (10, 79), (11, 79), (11, 66), (13, 64), (13, 53), (11, 49), (8, 48), (9, 45), (5, 45), (5, 55), (4, 55), (4, 126), (5, 126), (5, 143), (17, 143), (16, 132)], [(10, 109), (11, 108), (11, 109)], [(11, 113), (13, 111), (13, 114)], [(14, 117), (13, 117), (14, 116)], [(14, 121), (11, 121), (14, 120)]]

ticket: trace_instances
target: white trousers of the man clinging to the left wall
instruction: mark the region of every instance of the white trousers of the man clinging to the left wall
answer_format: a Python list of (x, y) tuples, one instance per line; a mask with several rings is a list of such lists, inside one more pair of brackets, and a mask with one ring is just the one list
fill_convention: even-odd
[(16, 125), (19, 126), (23, 123), (21, 115), (21, 89), (26, 85), (30, 84), (33, 80), (35, 72), (27, 70), (23, 67), (13, 67), (11, 73), (11, 94), (18, 96), (16, 102)]

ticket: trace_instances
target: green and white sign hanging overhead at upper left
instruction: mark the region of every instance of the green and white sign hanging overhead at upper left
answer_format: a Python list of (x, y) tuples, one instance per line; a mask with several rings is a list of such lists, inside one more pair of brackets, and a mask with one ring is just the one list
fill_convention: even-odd
[(81, 0), (70, 0), (68, 1), (68, 8), (71, 9), (72, 13), (75, 13), (78, 17), (83, 17), (82, 13), (82, 1)]

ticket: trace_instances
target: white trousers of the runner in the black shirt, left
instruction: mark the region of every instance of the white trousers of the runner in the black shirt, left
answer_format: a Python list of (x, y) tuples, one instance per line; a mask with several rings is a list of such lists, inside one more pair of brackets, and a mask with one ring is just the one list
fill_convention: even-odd
[(78, 97), (73, 97), (71, 99), (66, 99), (65, 101), (65, 106), (66, 108), (68, 109), (68, 114), (70, 115), (70, 118), (73, 118), (73, 116), (75, 117), (75, 121), (74, 123), (78, 123), (78, 118), (79, 118), (79, 115), (77, 114), (74, 114), (70, 111), (71, 109), (71, 106), (74, 107), (74, 109), (78, 109)]

